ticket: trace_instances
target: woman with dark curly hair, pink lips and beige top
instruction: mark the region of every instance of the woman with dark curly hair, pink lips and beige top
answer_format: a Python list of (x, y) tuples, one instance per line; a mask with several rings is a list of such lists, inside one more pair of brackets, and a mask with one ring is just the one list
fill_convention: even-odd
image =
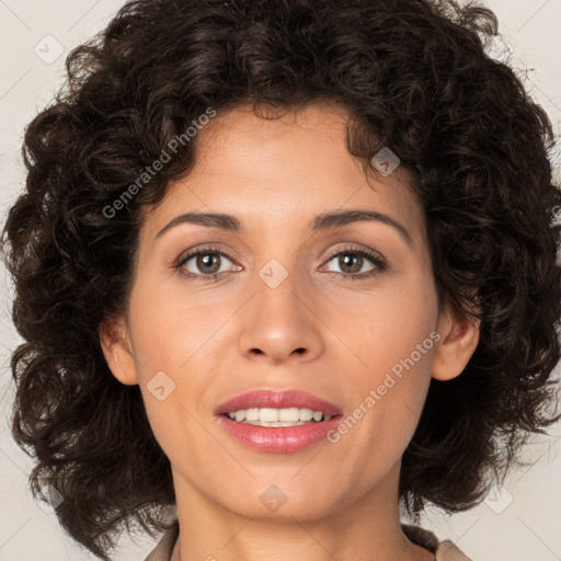
[(476, 505), (559, 419), (552, 131), (495, 31), (453, 2), (141, 0), (71, 54), (4, 240), (13, 434), (78, 542), (468, 559), (419, 514)]

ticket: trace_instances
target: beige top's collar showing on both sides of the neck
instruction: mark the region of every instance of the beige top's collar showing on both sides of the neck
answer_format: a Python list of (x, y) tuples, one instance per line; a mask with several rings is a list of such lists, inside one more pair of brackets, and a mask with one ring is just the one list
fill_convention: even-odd
[[(401, 529), (413, 543), (422, 546), (434, 553), (436, 556), (435, 561), (471, 561), (451, 541), (438, 541), (438, 538), (431, 531), (404, 524), (401, 525)], [(179, 530), (179, 523), (175, 520), (145, 561), (170, 561)]]

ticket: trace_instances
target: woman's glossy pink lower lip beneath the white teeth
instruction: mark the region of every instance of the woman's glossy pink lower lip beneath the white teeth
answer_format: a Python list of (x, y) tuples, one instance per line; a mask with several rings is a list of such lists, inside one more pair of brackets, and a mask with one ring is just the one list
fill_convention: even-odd
[(288, 453), (304, 450), (321, 440), (328, 442), (327, 435), (334, 430), (342, 415), (335, 415), (329, 421), (311, 422), (296, 426), (257, 426), (239, 423), (225, 415), (219, 422), (227, 433), (240, 443), (261, 451)]

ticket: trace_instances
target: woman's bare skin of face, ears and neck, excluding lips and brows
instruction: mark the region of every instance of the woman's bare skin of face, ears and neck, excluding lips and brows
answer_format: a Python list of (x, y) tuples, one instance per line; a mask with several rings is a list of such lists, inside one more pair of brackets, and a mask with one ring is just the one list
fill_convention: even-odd
[[(198, 133), (194, 169), (146, 214), (128, 317), (106, 322), (101, 342), (114, 376), (140, 385), (171, 462), (181, 530), (173, 561), (180, 542), (182, 561), (434, 559), (400, 528), (401, 457), (431, 377), (462, 371), (479, 325), (438, 310), (407, 172), (366, 178), (344, 127), (343, 110), (328, 103), (278, 121), (248, 106), (218, 115)], [(411, 243), (380, 221), (308, 229), (317, 215), (350, 208), (390, 216)], [(234, 215), (244, 230), (182, 224), (156, 239), (185, 211)], [(215, 255), (221, 276), (208, 279), (196, 257), (183, 271), (202, 280), (173, 270), (207, 243), (230, 254)], [(364, 257), (343, 268), (350, 244), (381, 254), (387, 268), (341, 276), (376, 267)], [(335, 250), (343, 255), (331, 257)], [(272, 259), (288, 274), (276, 288), (259, 276)], [(219, 403), (255, 388), (305, 390), (352, 414), (434, 331), (439, 341), (336, 444), (263, 453), (217, 422)], [(147, 385), (162, 370), (175, 390), (159, 401)], [(286, 497), (274, 512), (260, 501), (271, 484)]]

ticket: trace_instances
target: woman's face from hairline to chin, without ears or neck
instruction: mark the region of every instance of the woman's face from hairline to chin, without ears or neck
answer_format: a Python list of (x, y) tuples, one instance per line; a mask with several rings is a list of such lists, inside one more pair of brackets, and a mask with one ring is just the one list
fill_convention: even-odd
[[(383, 489), (397, 500), (442, 318), (404, 170), (368, 183), (344, 127), (319, 104), (278, 121), (245, 107), (217, 116), (198, 131), (193, 171), (146, 216), (126, 325), (134, 359), (121, 354), (116, 376), (140, 385), (181, 495), (300, 520)], [(321, 220), (351, 209), (377, 215)], [(229, 215), (239, 230), (178, 220), (186, 213)], [(313, 420), (272, 428), (219, 413), (254, 390), (307, 392), (340, 416), (328, 434)], [(257, 403), (304, 417), (302, 404), (320, 408)]]

